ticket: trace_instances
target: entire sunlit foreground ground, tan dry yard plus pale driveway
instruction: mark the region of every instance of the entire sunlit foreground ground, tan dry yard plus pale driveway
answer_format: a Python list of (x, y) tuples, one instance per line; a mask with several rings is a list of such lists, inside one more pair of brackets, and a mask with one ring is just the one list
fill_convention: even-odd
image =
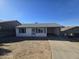
[(26, 40), (0, 48), (0, 59), (79, 59), (79, 42)]

